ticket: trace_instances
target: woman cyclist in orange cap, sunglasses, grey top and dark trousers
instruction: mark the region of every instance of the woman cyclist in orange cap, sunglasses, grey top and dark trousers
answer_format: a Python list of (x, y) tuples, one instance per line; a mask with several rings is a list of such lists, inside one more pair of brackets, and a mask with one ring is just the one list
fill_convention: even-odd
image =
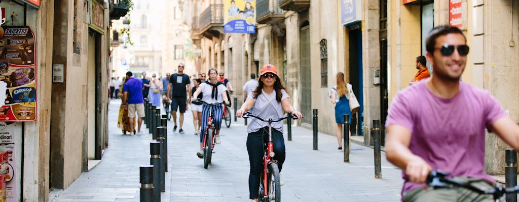
[[(292, 113), (301, 119), (303, 115), (294, 110), (290, 103), (289, 95), (286, 92), (278, 72), (274, 65), (265, 65), (261, 70), (260, 81), (257, 87), (249, 92), (247, 100), (236, 111), (237, 117), (242, 117), (243, 113), (254, 108), (254, 113), (268, 118), (282, 118), (284, 113)], [(267, 123), (253, 121), (247, 127), (247, 151), (249, 152), (250, 173), (249, 173), (249, 197), (252, 201), (257, 201), (258, 189), (260, 189), (260, 175), (263, 169), (263, 143), (268, 141)], [(272, 123), (272, 142), (274, 142), (274, 160), (278, 161), (279, 171), (285, 161), (285, 143), (283, 139), (283, 122)], [(283, 180), (281, 179), (281, 183)]]

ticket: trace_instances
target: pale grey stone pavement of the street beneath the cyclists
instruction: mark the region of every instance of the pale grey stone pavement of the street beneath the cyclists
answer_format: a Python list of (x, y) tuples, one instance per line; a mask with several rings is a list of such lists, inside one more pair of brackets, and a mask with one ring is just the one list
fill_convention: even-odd
[[(81, 174), (65, 190), (54, 190), (49, 201), (140, 201), (139, 165), (149, 164), (151, 135), (122, 135), (117, 125), (120, 100), (112, 100), (108, 114), (110, 140), (102, 161)], [(311, 118), (311, 115), (306, 115)], [(172, 132), (168, 121), (168, 170), (161, 201), (249, 201), (249, 161), (243, 119), (223, 126), (222, 144), (215, 146), (212, 163), (203, 168), (196, 157), (199, 135), (194, 135), (193, 116), (185, 114), (185, 134)], [(143, 127), (143, 131), (145, 127)], [(312, 131), (292, 128), (286, 137), (286, 160), (281, 174), (283, 201), (398, 201), (400, 170), (382, 153), (382, 179), (374, 178), (373, 149), (351, 144), (350, 163), (336, 150), (336, 137), (319, 133), (319, 150), (312, 150)]]

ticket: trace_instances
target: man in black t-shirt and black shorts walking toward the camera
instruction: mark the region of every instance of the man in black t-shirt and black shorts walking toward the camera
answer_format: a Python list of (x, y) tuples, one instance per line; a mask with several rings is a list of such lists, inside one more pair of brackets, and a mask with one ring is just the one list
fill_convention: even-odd
[(184, 74), (184, 64), (179, 64), (179, 70), (178, 73), (174, 73), (169, 77), (169, 84), (168, 84), (168, 95), (167, 95), (167, 101), (169, 102), (169, 95), (170, 93), (173, 94), (171, 97), (171, 110), (173, 115), (173, 122), (175, 123), (175, 126), (173, 127), (173, 132), (176, 131), (176, 111), (177, 109), (180, 112), (180, 129), (179, 133), (184, 134), (184, 130), (182, 130), (182, 124), (184, 123), (184, 112), (187, 110), (187, 106), (190, 101), (187, 101), (187, 94), (186, 92), (189, 92), (189, 95), (191, 95), (191, 82), (189, 81), (189, 76), (187, 74)]

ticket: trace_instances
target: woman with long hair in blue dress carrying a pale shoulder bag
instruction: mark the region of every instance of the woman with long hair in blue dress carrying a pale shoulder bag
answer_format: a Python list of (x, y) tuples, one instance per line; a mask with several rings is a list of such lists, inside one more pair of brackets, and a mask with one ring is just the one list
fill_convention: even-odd
[[(343, 124), (344, 124), (344, 115), (349, 115), (349, 122), (351, 122), (351, 111), (350, 104), (348, 102), (348, 88), (346, 87), (346, 82), (344, 80), (344, 73), (337, 72), (336, 77), (336, 86), (332, 88), (332, 94), (330, 97), (330, 102), (335, 104), (335, 122), (337, 123), (337, 143), (339, 147), (337, 150), (342, 150), (343, 146), (341, 144), (343, 139)], [(351, 135), (348, 133), (348, 138)], [(346, 138), (346, 137), (345, 137)]]

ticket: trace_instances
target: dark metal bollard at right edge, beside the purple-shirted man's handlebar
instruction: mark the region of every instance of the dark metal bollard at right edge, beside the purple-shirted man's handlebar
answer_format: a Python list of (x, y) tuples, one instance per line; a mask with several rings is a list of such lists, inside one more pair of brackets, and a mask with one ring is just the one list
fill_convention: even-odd
[[(517, 153), (514, 149), (504, 151), (504, 184), (506, 188), (513, 188), (517, 185)], [(506, 194), (507, 202), (517, 202), (517, 192)]]

